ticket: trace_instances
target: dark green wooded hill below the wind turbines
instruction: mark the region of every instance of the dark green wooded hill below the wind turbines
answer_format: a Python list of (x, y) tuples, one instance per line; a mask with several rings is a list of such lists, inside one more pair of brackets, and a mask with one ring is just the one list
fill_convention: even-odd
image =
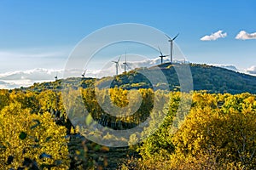
[[(171, 65), (170, 63), (166, 63), (149, 68), (138, 68), (122, 73), (116, 77), (102, 77), (100, 79), (73, 77), (55, 82), (35, 83), (33, 86), (26, 89), (36, 91), (42, 91), (44, 89), (61, 90), (63, 85), (64, 87), (68, 86), (73, 88), (90, 88), (96, 85), (98, 88), (119, 87), (133, 89), (156, 87), (158, 89), (169, 88), (170, 90), (177, 91), (181, 87), (175, 68), (182, 70), (185, 66), (188, 67), (187, 64), (184, 65), (176, 63)], [(238, 71), (232, 71), (235, 70), (235, 68), (228, 70), (219, 66), (201, 64), (189, 64), (189, 68), (191, 71), (194, 90), (207, 90), (208, 93), (222, 94), (241, 94), (245, 92), (256, 94), (256, 77)], [(164, 77), (166, 77), (166, 83), (157, 82), (159, 78), (157, 77), (157, 71), (161, 71), (163, 73)], [(142, 72), (146, 72), (146, 74), (154, 77), (155, 81), (149, 81)]]

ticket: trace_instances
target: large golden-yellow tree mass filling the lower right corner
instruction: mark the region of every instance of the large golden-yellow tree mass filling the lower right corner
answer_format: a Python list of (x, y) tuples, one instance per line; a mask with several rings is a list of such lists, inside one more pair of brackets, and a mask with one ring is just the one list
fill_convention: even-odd
[[(241, 168), (256, 164), (256, 102), (253, 94), (195, 94), (183, 126), (173, 137), (178, 168)], [(211, 102), (203, 102), (206, 99)], [(219, 105), (218, 99), (224, 99)]]

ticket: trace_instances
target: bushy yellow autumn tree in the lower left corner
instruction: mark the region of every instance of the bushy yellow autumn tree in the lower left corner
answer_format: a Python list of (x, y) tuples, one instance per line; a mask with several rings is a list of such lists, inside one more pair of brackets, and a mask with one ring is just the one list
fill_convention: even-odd
[(66, 127), (55, 124), (49, 112), (32, 114), (18, 102), (0, 112), (1, 169), (67, 169)]

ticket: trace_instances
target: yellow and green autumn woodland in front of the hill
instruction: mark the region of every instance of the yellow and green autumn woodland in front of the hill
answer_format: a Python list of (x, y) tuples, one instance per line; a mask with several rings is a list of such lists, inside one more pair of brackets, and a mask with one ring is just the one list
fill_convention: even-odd
[[(109, 93), (115, 105), (128, 103), (127, 90), (97, 89)], [(143, 101), (131, 116), (110, 116), (99, 106), (95, 88), (70, 91), (68, 100), (78, 121), (93, 126), (88, 116), (76, 107), (82, 94), (84, 108), (103, 127), (130, 129), (153, 119), (143, 132), (150, 131), (160, 115), (159, 129), (140, 144), (139, 135), (124, 141), (119, 136), (97, 133), (97, 138), (123, 141), (130, 148), (112, 148), (84, 139), (79, 127), (73, 127), (61, 92), (44, 90), (0, 90), (0, 162), (2, 169), (253, 169), (256, 159), (255, 94), (207, 94), (195, 92), (154, 92), (137, 90)], [(77, 96), (77, 98), (73, 98)], [(192, 97), (189, 105), (178, 106)], [(155, 99), (167, 99), (163, 110), (154, 111)], [(70, 108), (69, 108), (70, 109)], [(69, 112), (70, 113), (70, 112)], [(185, 114), (186, 113), (186, 114)], [(83, 116), (84, 114), (84, 116)], [(187, 115), (187, 117), (185, 117)], [(173, 126), (175, 123), (175, 126)], [(128, 157), (126, 157), (126, 155)]]

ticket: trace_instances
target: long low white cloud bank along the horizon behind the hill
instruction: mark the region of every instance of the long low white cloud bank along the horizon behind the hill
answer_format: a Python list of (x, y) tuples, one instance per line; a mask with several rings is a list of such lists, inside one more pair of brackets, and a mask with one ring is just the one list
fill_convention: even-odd
[[(164, 62), (169, 62), (169, 59), (165, 58)], [(176, 62), (183, 62), (177, 61)], [(119, 74), (124, 72), (123, 61), (119, 62)], [(150, 67), (153, 65), (160, 64), (160, 58), (156, 59), (143, 59), (141, 61), (131, 61), (127, 62), (129, 65), (128, 71), (131, 71), (140, 67)], [(30, 69), (26, 71), (9, 71), (0, 73), (0, 88), (20, 88), (32, 86), (34, 82), (53, 82), (55, 81), (55, 76), (63, 77), (82, 77), (84, 71), (79, 69), (66, 70), (64, 69), (46, 69), (46, 68), (37, 68)], [(102, 70), (87, 70), (85, 77), (108, 77), (113, 76), (116, 73), (116, 67), (113, 63), (109, 63)]]

